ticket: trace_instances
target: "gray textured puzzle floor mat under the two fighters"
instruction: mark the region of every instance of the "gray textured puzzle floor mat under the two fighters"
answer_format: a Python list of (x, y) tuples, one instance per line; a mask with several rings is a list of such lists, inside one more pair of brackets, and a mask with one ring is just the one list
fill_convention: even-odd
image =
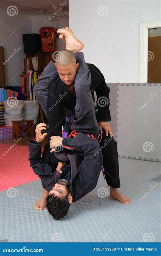
[(159, 242), (160, 163), (119, 158), (119, 166), (119, 191), (129, 205), (109, 198), (101, 174), (96, 188), (59, 221), (33, 207), (42, 193), (40, 180), (15, 187), (15, 197), (2, 191), (1, 242)]

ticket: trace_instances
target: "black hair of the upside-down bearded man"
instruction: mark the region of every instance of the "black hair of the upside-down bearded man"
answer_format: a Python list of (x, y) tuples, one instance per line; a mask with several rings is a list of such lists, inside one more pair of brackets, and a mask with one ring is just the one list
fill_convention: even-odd
[(46, 207), (49, 214), (52, 215), (54, 220), (59, 220), (66, 216), (66, 214), (68, 213), (70, 207), (68, 195), (63, 198), (59, 198), (54, 194), (47, 197)]

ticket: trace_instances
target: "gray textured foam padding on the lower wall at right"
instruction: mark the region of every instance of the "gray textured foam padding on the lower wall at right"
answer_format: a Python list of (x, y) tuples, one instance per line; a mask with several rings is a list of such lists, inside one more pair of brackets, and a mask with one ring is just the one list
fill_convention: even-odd
[(161, 84), (107, 84), (120, 157), (161, 162)]

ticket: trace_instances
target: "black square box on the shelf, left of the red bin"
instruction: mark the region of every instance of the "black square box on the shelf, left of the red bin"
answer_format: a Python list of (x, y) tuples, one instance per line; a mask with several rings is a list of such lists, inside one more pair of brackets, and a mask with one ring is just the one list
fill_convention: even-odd
[(42, 51), (40, 34), (23, 34), (24, 53), (38, 53)]

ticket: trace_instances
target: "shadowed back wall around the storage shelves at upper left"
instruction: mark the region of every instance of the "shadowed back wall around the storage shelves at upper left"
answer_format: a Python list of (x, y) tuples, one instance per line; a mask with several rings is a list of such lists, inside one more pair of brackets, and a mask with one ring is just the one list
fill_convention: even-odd
[[(39, 34), (39, 28), (41, 27), (53, 26), (56, 29), (65, 26), (69, 27), (69, 22), (66, 18), (50, 21), (48, 14), (30, 15), (21, 12), (18, 12), (17, 15), (9, 16), (5, 9), (0, 9), (0, 21), (2, 21), (0, 22), (0, 45), (4, 47), (4, 62), (13, 55), (14, 49), (17, 50), (19, 48), (16, 55), (11, 57), (3, 66), (5, 70), (5, 85), (7, 86), (21, 86), (22, 84), (20, 75), (24, 71), (24, 58), (26, 58), (26, 54), (23, 52), (22, 34)], [(65, 43), (57, 38), (56, 50), (64, 48)]]

